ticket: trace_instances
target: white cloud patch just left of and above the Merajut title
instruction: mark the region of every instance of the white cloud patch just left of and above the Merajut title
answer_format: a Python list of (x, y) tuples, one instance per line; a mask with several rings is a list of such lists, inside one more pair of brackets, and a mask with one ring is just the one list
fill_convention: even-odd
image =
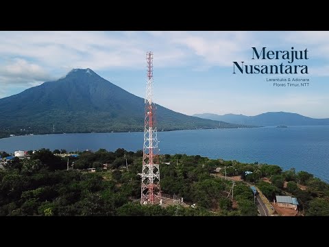
[[(185, 56), (201, 58), (199, 66), (231, 67), (232, 61), (249, 60), (251, 47), (258, 45), (251, 32), (150, 32), (174, 47), (180, 47)], [(191, 62), (191, 61), (190, 61)]]

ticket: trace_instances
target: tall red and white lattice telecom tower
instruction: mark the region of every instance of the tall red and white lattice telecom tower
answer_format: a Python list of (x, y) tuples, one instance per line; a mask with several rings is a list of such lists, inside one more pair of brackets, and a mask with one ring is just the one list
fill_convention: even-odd
[(160, 169), (158, 163), (158, 134), (156, 131), (155, 110), (153, 102), (153, 53), (148, 51), (147, 86), (145, 97), (145, 126), (143, 145), (143, 169), (141, 186), (141, 204), (161, 203)]

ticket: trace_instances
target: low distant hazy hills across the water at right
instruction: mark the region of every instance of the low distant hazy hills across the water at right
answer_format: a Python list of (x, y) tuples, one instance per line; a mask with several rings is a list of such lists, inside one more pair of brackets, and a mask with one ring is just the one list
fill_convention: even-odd
[(195, 117), (202, 117), (204, 119), (212, 119), (217, 121), (228, 121), (234, 124), (249, 124), (255, 126), (328, 126), (329, 119), (313, 119), (305, 117), (297, 113), (262, 113), (256, 116), (245, 115), (216, 115), (211, 113), (195, 114)]

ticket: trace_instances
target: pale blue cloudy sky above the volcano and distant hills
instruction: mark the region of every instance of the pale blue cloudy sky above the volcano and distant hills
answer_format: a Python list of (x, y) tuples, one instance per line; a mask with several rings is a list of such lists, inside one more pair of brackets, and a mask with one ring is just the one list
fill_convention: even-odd
[[(309, 59), (293, 65), (307, 65), (308, 74), (234, 74), (234, 61), (289, 64), (252, 60), (252, 47), (307, 49)], [(251, 116), (285, 111), (329, 118), (329, 32), (314, 31), (0, 32), (0, 98), (58, 80), (77, 68), (90, 68), (145, 97), (147, 51), (154, 53), (154, 101), (179, 113)], [(267, 81), (273, 78), (307, 78), (309, 85), (273, 86)]]

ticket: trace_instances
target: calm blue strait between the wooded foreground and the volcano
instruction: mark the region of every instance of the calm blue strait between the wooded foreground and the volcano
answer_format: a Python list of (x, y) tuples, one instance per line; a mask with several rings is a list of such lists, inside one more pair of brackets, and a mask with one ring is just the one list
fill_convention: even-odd
[[(329, 126), (239, 128), (158, 132), (161, 154), (199, 154), (254, 163), (295, 167), (329, 182)], [(0, 150), (68, 151), (117, 148), (143, 149), (143, 132), (101, 134), (48, 134), (0, 139)]]

